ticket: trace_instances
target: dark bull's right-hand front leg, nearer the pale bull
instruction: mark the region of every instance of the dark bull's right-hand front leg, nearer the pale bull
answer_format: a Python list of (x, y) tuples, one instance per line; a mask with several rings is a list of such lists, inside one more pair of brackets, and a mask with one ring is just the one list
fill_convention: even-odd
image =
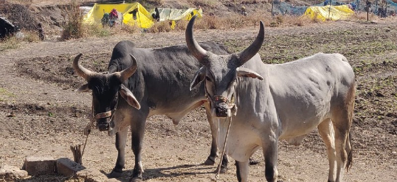
[(130, 182), (142, 182), (142, 142), (143, 135), (145, 133), (145, 121), (136, 120), (131, 123), (131, 135), (132, 135), (132, 152), (135, 156), (135, 166), (132, 171)]

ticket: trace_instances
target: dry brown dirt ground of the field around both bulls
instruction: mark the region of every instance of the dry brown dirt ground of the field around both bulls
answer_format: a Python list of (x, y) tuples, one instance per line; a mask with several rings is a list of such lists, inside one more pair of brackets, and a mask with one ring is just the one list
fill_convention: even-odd
[[(199, 41), (214, 40), (240, 51), (255, 38), (258, 27), (237, 30), (197, 30)], [(265, 63), (292, 61), (318, 52), (344, 54), (357, 80), (352, 126), (353, 167), (346, 182), (397, 181), (397, 20), (376, 24), (337, 21), (305, 27), (265, 28), (260, 54)], [(26, 156), (72, 159), (70, 145), (82, 144), (88, 122), (90, 94), (73, 92), (84, 80), (74, 73), (72, 59), (83, 53), (87, 68), (106, 69), (114, 45), (131, 40), (141, 48), (184, 43), (184, 32), (132, 34), (106, 39), (26, 43), (0, 53), (0, 164), (21, 166)], [(131, 134), (130, 134), (131, 136)], [(131, 138), (128, 140), (131, 146)], [(144, 181), (209, 182), (215, 166), (201, 165), (209, 154), (210, 130), (202, 108), (189, 113), (175, 127), (164, 116), (146, 124), (143, 147)], [(126, 172), (118, 180), (128, 182), (133, 154), (126, 149)], [(117, 151), (114, 138), (93, 131), (83, 165), (109, 173)], [(249, 180), (263, 182), (261, 161), (250, 166)], [(218, 162), (218, 160), (217, 160)], [(237, 181), (234, 160), (221, 181)], [(299, 147), (279, 142), (278, 174), (282, 182), (325, 182), (328, 160), (317, 130)], [(59, 182), (68, 178), (34, 176), (24, 182)]]

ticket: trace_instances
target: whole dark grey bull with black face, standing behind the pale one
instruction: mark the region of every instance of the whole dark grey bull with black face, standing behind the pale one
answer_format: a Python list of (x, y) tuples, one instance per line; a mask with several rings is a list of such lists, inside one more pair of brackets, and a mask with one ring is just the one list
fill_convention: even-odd
[[(228, 54), (225, 46), (213, 42), (200, 43), (200, 46), (216, 54)], [(149, 116), (163, 114), (171, 118), (174, 124), (178, 124), (188, 112), (204, 104), (211, 133), (216, 133), (208, 113), (209, 105), (205, 99), (204, 86), (193, 90), (189, 88), (191, 79), (201, 65), (195, 61), (185, 44), (159, 49), (139, 49), (130, 41), (121, 41), (113, 49), (106, 74), (92, 72), (81, 66), (80, 56), (81, 54), (74, 59), (73, 67), (88, 83), (77, 91), (92, 90), (96, 127), (101, 131), (107, 130), (110, 136), (116, 135), (118, 156), (116, 166), (108, 175), (110, 178), (122, 175), (128, 125), (131, 125), (132, 151), (135, 155), (132, 182), (142, 180), (142, 140), (145, 122)], [(119, 99), (120, 97), (123, 99)], [(217, 156), (215, 138), (212, 135), (210, 155), (204, 163), (206, 165), (213, 165)], [(227, 162), (224, 156), (223, 170), (226, 169)]]

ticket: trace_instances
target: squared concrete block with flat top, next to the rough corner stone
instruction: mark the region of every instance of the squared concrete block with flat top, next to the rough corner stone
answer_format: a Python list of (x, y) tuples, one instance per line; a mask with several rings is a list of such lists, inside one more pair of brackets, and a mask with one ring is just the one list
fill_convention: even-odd
[(48, 156), (26, 157), (22, 167), (29, 175), (42, 175), (55, 172), (55, 160)]

